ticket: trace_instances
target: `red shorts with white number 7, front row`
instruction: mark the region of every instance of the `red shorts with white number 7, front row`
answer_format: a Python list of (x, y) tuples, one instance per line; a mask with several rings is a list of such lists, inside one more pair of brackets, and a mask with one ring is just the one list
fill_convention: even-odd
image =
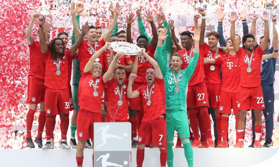
[(153, 146), (167, 148), (167, 129), (164, 118), (142, 122), (138, 134), (138, 144), (145, 144), (149, 147), (152, 141)]

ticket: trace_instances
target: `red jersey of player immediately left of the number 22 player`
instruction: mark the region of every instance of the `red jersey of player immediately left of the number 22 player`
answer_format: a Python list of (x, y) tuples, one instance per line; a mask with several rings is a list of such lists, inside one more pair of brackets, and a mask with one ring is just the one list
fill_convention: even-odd
[(213, 58), (222, 68), (221, 89), (225, 92), (239, 92), (240, 66), (236, 55), (223, 54)]

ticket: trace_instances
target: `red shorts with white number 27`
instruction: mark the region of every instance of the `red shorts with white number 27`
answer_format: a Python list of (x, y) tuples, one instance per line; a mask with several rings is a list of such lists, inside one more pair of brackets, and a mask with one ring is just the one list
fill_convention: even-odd
[(197, 108), (200, 106), (208, 106), (208, 94), (205, 86), (205, 81), (195, 85), (188, 86), (187, 92), (187, 108)]

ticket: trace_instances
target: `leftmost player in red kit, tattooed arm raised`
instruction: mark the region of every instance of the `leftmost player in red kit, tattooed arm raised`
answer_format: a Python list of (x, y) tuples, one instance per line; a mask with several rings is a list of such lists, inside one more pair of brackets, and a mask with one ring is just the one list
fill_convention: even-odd
[[(44, 130), (44, 125), (46, 122), (46, 112), (44, 104), (44, 94), (46, 87), (44, 86), (45, 78), (45, 62), (44, 55), (41, 51), (41, 46), (39, 41), (35, 41), (34, 37), (31, 35), (33, 24), (36, 19), (40, 17), (40, 14), (35, 13), (32, 15), (32, 19), (26, 29), (26, 40), (29, 47), (30, 53), (30, 69), (28, 74), (28, 91), (27, 91), (27, 103), (29, 104), (29, 110), (26, 116), (26, 128), (27, 135), (25, 142), (28, 147), (35, 148), (32, 138), (31, 129), (34, 120), (34, 114), (37, 110), (37, 105), (40, 104), (40, 115), (39, 115), (39, 125), (38, 134), (35, 139), (35, 143), (39, 148), (42, 148), (42, 133)], [(49, 42), (49, 32), (47, 35), (47, 41)]]

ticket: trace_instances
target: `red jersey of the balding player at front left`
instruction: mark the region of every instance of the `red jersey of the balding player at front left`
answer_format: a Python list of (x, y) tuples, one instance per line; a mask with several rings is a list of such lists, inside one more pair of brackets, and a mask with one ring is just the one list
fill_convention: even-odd
[(97, 79), (98, 78), (94, 78), (91, 76), (91, 71), (85, 72), (81, 76), (78, 87), (78, 105), (85, 110), (99, 113), (101, 112), (101, 101), (105, 96), (105, 83), (103, 81), (103, 77), (99, 77), (96, 90), (98, 92), (98, 96), (95, 97), (93, 95), (93, 84), (96, 83)]

